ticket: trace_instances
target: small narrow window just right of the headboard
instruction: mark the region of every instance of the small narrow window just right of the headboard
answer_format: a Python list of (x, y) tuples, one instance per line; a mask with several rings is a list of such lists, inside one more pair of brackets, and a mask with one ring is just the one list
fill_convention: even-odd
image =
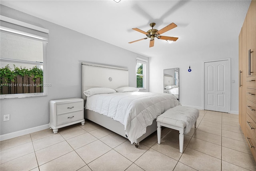
[(146, 60), (136, 59), (137, 88), (140, 89), (146, 89), (146, 64)]

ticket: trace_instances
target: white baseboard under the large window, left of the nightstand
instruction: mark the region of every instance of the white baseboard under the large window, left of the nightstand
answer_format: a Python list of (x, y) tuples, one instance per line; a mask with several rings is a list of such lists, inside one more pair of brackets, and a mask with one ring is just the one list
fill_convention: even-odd
[(4, 135), (0, 135), (0, 141), (15, 138), (15, 137), (19, 137), (19, 136), (22, 136), (22, 135), (33, 133), (33, 132), (36, 132), (36, 131), (41, 131), (41, 130), (48, 129), (48, 128), (49, 128), (49, 125), (46, 124), (46, 125), (41, 125), (41, 126), (38, 126), (38, 127), (32, 127), (32, 128), (12, 132), (12, 133), (6, 133)]

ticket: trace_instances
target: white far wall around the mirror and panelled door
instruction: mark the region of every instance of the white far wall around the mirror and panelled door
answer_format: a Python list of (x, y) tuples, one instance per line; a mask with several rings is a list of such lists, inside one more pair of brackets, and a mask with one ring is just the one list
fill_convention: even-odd
[[(239, 32), (238, 32), (239, 34)], [(180, 68), (180, 103), (202, 109), (202, 62), (231, 58), (231, 113), (238, 114), (238, 34), (233, 39), (207, 45), (178, 46), (170, 44), (170, 56), (150, 58), (150, 91), (163, 92), (163, 70)], [(177, 44), (176, 44), (177, 43)], [(191, 72), (188, 72), (188, 67)]]

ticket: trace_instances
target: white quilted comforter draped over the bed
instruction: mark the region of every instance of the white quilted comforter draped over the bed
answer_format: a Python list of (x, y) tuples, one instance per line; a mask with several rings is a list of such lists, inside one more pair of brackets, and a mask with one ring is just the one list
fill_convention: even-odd
[(176, 105), (180, 105), (179, 101), (168, 93), (95, 94), (86, 100), (86, 109), (122, 123), (131, 143), (146, 133), (146, 127), (151, 125), (158, 115)]

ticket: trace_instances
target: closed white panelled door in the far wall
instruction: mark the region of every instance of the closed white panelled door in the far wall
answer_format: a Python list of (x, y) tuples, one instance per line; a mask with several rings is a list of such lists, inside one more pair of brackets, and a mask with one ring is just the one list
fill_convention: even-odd
[(204, 63), (204, 109), (230, 111), (230, 61)]

